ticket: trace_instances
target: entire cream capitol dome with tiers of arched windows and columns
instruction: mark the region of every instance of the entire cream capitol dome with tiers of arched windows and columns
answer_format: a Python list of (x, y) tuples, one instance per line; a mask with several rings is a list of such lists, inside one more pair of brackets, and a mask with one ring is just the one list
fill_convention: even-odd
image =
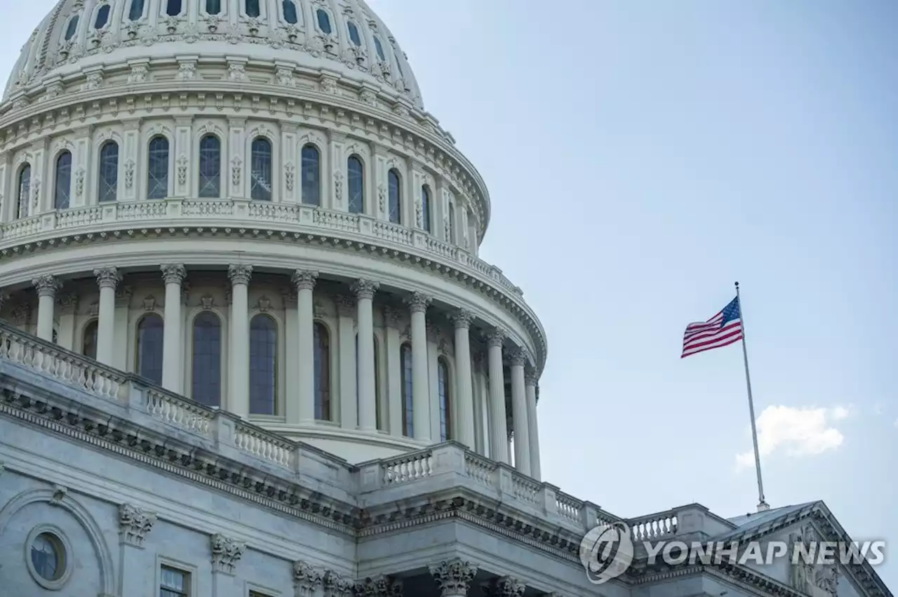
[(0, 103), (0, 316), (180, 420), (538, 478), (546, 339), (488, 223), (362, 0), (61, 0)]

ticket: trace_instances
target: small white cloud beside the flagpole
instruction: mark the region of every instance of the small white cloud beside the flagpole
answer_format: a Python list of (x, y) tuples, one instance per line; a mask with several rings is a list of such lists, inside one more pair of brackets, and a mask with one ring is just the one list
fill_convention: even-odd
[[(850, 415), (845, 407), (795, 408), (771, 406), (758, 417), (758, 451), (762, 456), (784, 452), (787, 456), (814, 456), (838, 448), (844, 435), (832, 426)], [(898, 426), (898, 421), (895, 421)], [(754, 452), (736, 454), (736, 468), (754, 466)]]

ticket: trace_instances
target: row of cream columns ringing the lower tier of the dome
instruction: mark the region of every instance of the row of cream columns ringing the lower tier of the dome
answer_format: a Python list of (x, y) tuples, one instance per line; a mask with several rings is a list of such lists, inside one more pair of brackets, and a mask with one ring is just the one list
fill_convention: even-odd
[[(181, 285), (187, 276), (182, 264), (161, 266), (165, 285), (163, 376), (167, 390), (183, 394), (183, 366), (185, 362), (182, 342)], [(114, 355), (115, 289), (121, 281), (116, 268), (94, 270), (100, 287), (98, 310), (97, 360), (111, 364)], [(229, 334), (231, 366), (228, 367), (228, 384), (232, 399), (229, 407), (235, 415), (248, 417), (250, 412), (250, 308), (249, 284), (252, 266), (234, 264), (228, 267), (231, 282), (231, 322)], [(296, 334), (298, 346), (298, 411), (301, 425), (312, 425), (315, 420), (314, 376), (314, 310), (313, 290), (318, 272), (296, 270), (292, 282), (296, 287)], [(56, 277), (36, 278), (38, 304), (38, 337), (52, 341), (54, 305), (61, 287)], [(377, 429), (377, 406), (374, 374), (374, 294), (377, 282), (358, 279), (350, 289), (356, 297), (358, 328), (358, 426), (365, 431)], [(415, 439), (430, 442), (431, 397), (427, 357), (427, 308), (432, 298), (419, 292), (410, 293), (405, 299), (411, 319), (412, 361), (412, 417)], [(461, 309), (451, 316), (454, 324), (455, 395), (456, 408), (453, 439), (471, 449), (475, 446), (474, 399), (471, 374), (471, 312)], [(506, 429), (505, 374), (503, 353), (506, 332), (493, 329), (487, 334), (489, 353), (489, 457), (511, 463)], [(533, 478), (541, 477), (539, 458), (539, 431), (536, 417), (536, 377), (527, 372), (528, 358), (524, 350), (516, 348), (509, 355), (512, 397), (512, 424), (515, 431), (515, 468)]]

